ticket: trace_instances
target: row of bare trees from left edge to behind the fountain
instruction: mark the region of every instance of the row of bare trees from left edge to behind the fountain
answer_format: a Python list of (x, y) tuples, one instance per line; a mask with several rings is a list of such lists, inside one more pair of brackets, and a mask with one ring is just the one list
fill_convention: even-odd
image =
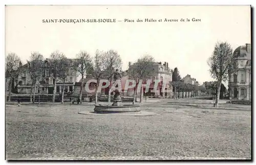
[[(44, 81), (44, 56), (38, 52), (31, 53), (29, 60), (27, 60), (28, 67), (24, 67), (21, 64), (20, 58), (15, 53), (10, 53), (6, 57), (6, 86), (10, 89), (13, 85), (13, 81), (18, 83), (17, 77), (19, 74), (23, 73), (25, 70), (28, 70), (28, 74), (31, 80), (31, 92), (30, 92), (30, 101), (35, 101), (35, 89), (37, 85), (45, 84)], [(55, 101), (56, 95), (56, 83), (57, 80), (62, 83), (62, 89), (65, 87), (67, 82), (67, 77), (69, 75), (69, 68), (72, 68), (74, 72), (82, 76), (81, 87), (80, 87), (80, 99), (82, 97), (83, 90), (83, 79), (85, 75), (94, 77), (97, 80), (100, 78), (108, 78), (112, 80), (115, 69), (121, 68), (121, 58), (120, 55), (113, 50), (108, 52), (96, 51), (94, 59), (86, 52), (80, 51), (76, 55), (76, 60), (73, 61), (71, 65), (71, 59), (68, 59), (63, 53), (55, 51), (51, 53), (49, 58), (49, 68), (51, 76), (55, 79), (53, 81), (54, 91), (53, 91), (53, 102)], [(8, 82), (9, 80), (9, 82)], [(40, 88), (39, 88), (40, 89)], [(40, 90), (41, 93), (41, 90)], [(6, 88), (7, 94), (7, 88)], [(10, 101), (11, 92), (9, 92)], [(33, 96), (33, 97), (32, 97)], [(62, 103), (63, 103), (64, 90), (62, 90)], [(7, 95), (6, 95), (7, 97)], [(110, 100), (110, 96), (109, 96)]]

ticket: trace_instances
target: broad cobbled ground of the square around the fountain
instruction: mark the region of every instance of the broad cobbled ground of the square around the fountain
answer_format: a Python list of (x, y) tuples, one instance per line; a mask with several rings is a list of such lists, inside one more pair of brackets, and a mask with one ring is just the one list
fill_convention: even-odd
[(7, 159), (251, 158), (251, 112), (145, 104), (153, 116), (83, 115), (93, 105), (6, 105)]

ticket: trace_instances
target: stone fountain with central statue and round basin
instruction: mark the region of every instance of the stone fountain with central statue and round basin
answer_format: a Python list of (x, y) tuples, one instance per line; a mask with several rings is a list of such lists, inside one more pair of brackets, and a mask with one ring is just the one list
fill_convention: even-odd
[[(121, 78), (121, 74), (116, 70), (114, 80)], [(140, 105), (122, 104), (122, 98), (118, 90), (115, 90), (114, 103), (112, 105), (95, 105), (95, 113), (122, 113), (122, 112), (139, 112)]]

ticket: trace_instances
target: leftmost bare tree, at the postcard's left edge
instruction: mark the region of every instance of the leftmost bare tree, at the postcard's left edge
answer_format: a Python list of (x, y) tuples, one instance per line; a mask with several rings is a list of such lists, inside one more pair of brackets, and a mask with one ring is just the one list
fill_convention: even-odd
[[(18, 76), (20, 68), (20, 58), (15, 53), (9, 53), (5, 61), (5, 90), (6, 90), (6, 101), (7, 101), (7, 89), (9, 89), (9, 99), (11, 101), (11, 86), (12, 79), (15, 79)], [(9, 83), (8, 83), (9, 80)]]

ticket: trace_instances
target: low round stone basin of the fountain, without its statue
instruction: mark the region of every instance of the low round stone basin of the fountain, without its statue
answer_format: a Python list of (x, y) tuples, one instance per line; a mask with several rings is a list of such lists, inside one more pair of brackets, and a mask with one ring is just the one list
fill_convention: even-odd
[(121, 113), (121, 112), (139, 112), (140, 105), (95, 105), (96, 113)]

